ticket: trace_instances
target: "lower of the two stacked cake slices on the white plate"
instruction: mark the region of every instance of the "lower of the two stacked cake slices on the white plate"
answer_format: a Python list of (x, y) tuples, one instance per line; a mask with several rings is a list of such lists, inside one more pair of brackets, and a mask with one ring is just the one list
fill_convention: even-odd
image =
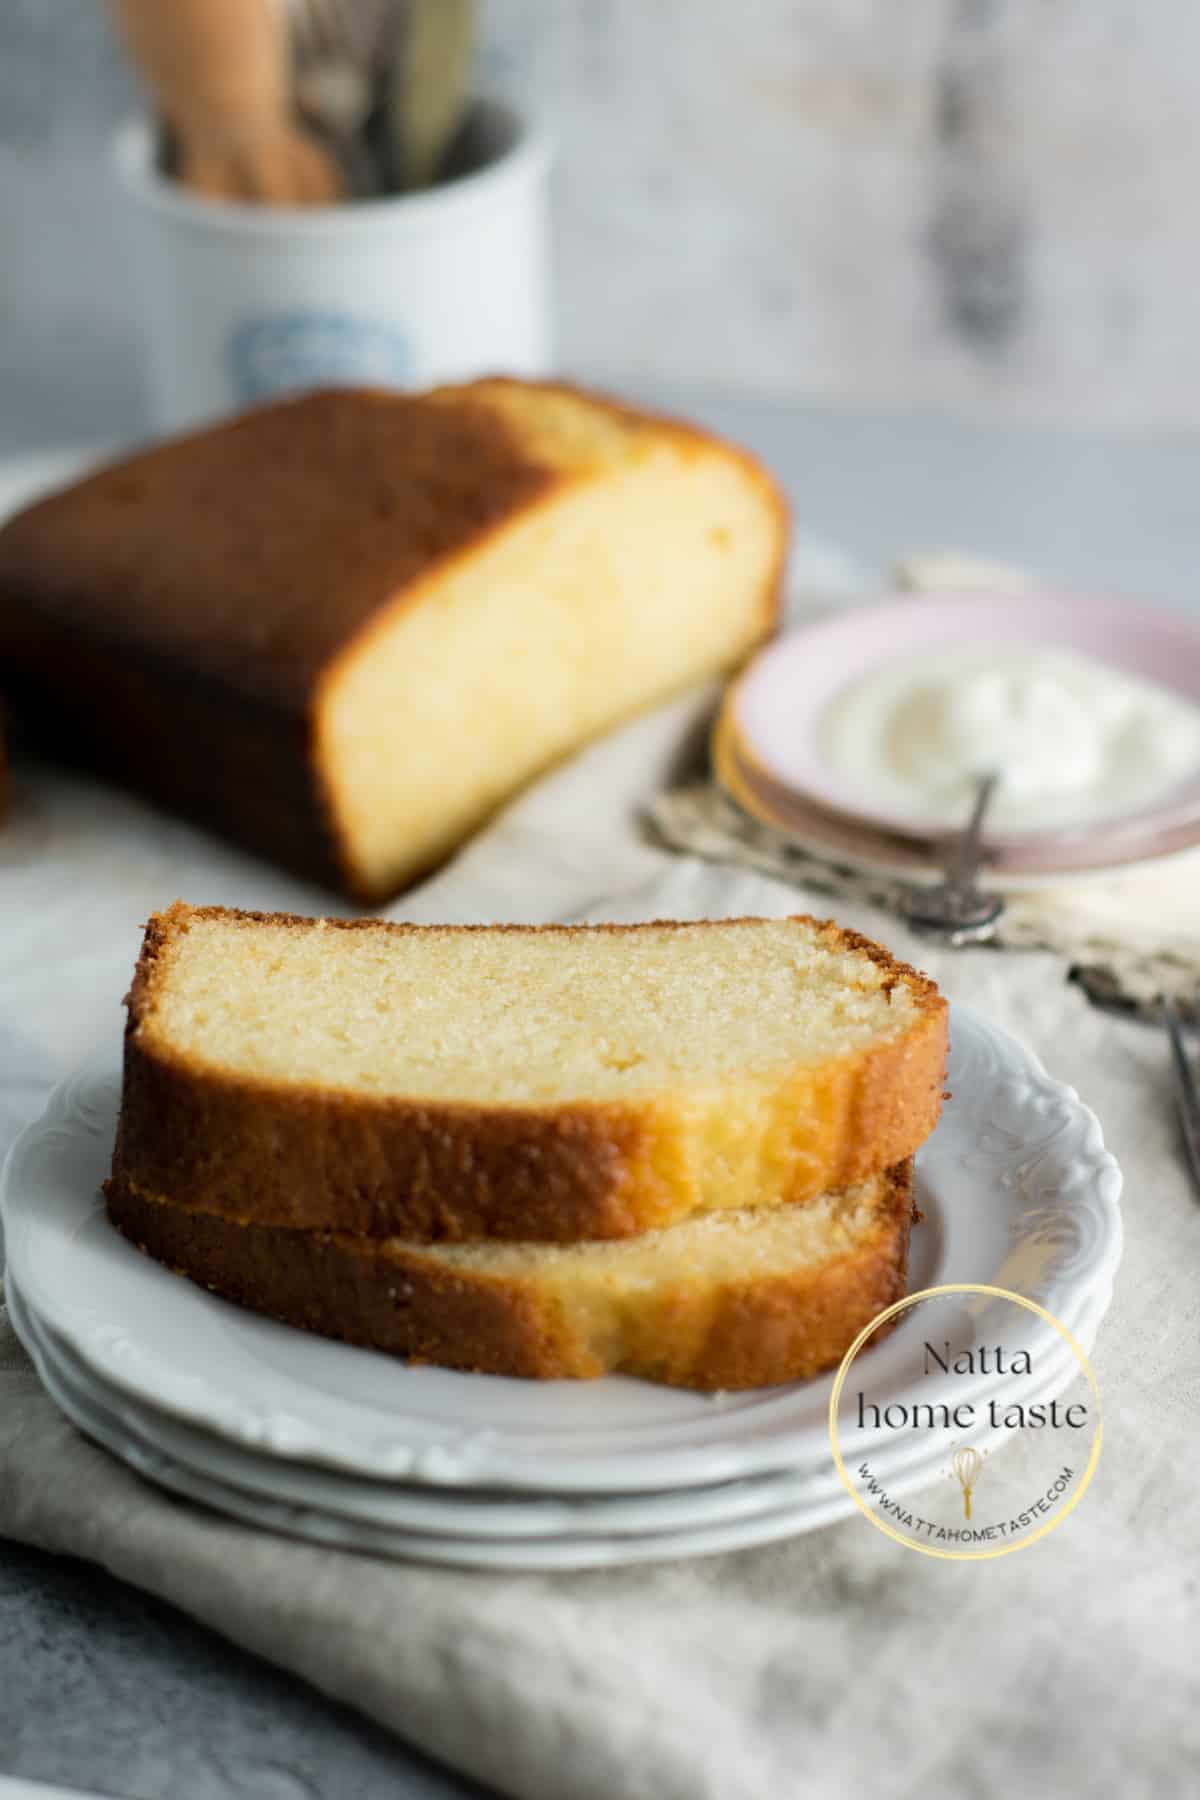
[(837, 1366), (905, 1292), (912, 1166), (810, 1206), (622, 1244), (372, 1244), (234, 1224), (117, 1177), (113, 1222), (180, 1274), (288, 1325), (489, 1375), (759, 1388)]

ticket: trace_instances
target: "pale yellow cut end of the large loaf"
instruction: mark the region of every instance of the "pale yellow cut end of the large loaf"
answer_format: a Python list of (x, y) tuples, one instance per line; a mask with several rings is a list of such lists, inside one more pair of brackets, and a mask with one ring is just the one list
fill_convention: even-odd
[(570, 389), (477, 382), (545, 493), (383, 608), (324, 675), (317, 761), (351, 886), (394, 893), (516, 787), (772, 628), (783, 502), (714, 437)]

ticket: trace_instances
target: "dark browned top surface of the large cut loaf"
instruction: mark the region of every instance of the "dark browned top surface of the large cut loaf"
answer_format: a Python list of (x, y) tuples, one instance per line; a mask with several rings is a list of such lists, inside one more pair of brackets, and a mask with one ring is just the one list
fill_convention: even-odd
[(27, 614), (297, 711), (383, 605), (556, 486), (664, 434), (711, 443), (597, 396), (509, 380), (255, 409), (11, 520), (0, 655), (7, 643), (20, 662)]

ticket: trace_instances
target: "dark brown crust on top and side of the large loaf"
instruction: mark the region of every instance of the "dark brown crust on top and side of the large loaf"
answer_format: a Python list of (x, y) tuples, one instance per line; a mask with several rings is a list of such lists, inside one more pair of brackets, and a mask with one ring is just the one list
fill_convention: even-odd
[[(594, 472), (556, 455), (515, 396), (574, 396), (626, 432), (716, 443), (579, 389), (502, 378), (254, 409), (103, 468), (0, 529), (0, 686), (56, 754), (306, 880), (381, 898), (396, 884), (372, 887), (356, 868), (327, 792), (318, 695), (394, 608)], [(721, 450), (777, 518), (766, 637), (786, 502), (754, 457)]]

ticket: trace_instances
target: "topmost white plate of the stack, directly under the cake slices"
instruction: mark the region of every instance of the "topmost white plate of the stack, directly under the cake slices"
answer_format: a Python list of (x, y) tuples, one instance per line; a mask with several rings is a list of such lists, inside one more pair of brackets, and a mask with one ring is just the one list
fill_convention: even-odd
[[(525, 1382), (407, 1368), (182, 1282), (104, 1217), (97, 1190), (119, 1085), (113, 1053), (59, 1089), (13, 1147), (0, 1190), (22, 1294), (106, 1384), (259, 1453), (423, 1485), (630, 1494), (826, 1465), (833, 1377), (694, 1395), (624, 1377)], [(963, 1008), (950, 1087), (919, 1157), (925, 1224), (910, 1285), (1011, 1287), (1081, 1328), (1097, 1300), (1103, 1310), (1121, 1256), (1121, 1175), (1096, 1118)], [(871, 1355), (896, 1399), (936, 1399), (921, 1384), (916, 1319)], [(955, 1397), (972, 1399), (955, 1381)]]

